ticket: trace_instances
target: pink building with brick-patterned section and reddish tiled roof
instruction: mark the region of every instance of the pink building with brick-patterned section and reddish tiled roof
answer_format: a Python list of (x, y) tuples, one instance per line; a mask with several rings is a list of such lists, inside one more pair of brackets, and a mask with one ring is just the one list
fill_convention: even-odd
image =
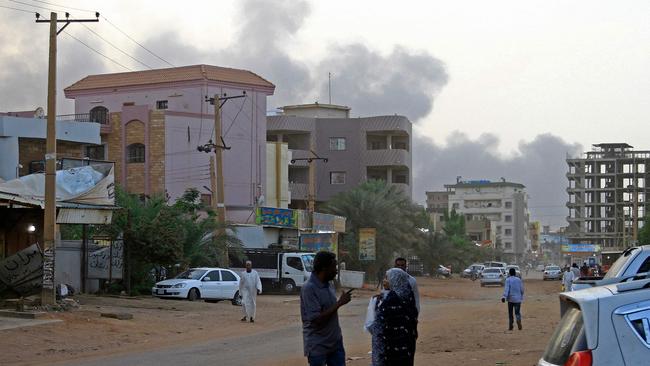
[(222, 108), (228, 220), (254, 222), (265, 191), (266, 97), (275, 86), (247, 71), (210, 65), (90, 75), (65, 89), (75, 120), (99, 122), (102, 145), (87, 157), (115, 161), (116, 182), (127, 191), (166, 194), (197, 188), (209, 200), (209, 154), (214, 106), (206, 97), (237, 96)]

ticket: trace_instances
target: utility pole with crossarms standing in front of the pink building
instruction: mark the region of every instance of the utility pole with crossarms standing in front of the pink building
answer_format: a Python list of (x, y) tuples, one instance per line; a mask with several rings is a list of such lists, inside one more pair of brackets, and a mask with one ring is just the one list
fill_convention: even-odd
[[(225, 94), (224, 94), (225, 95)], [(213, 239), (216, 240), (219, 236), (225, 233), (226, 227), (226, 198), (224, 192), (224, 178), (223, 178), (223, 150), (230, 150), (230, 146), (226, 146), (226, 142), (222, 136), (221, 128), (221, 107), (230, 99), (236, 98), (245, 98), (246, 91), (242, 92), (242, 95), (237, 95), (233, 97), (219, 97), (218, 94), (215, 94), (213, 98), (205, 97), (206, 102), (214, 104), (214, 137), (216, 140), (221, 141), (221, 145), (217, 145), (208, 141), (205, 145), (200, 145), (197, 147), (198, 151), (210, 153), (214, 152), (214, 156), (210, 157), (210, 184), (212, 190), (212, 208), (217, 212), (217, 222), (219, 223), (219, 229), (213, 233)], [(223, 101), (223, 103), (221, 103)], [(235, 123), (235, 121), (233, 121)], [(216, 169), (215, 169), (216, 162)], [(215, 171), (216, 170), (216, 171)], [(216, 175), (216, 177), (215, 177)], [(216, 197), (215, 197), (216, 194)], [(228, 265), (228, 245), (226, 244), (224, 248), (224, 261), (225, 266)]]

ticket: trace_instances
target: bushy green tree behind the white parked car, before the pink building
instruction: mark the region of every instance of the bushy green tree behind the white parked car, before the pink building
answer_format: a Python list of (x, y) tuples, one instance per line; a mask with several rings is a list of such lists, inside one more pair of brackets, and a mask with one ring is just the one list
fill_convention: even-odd
[[(142, 200), (118, 188), (116, 204), (121, 209), (102, 232), (124, 242), (125, 285), (129, 293), (148, 291), (148, 274), (157, 266), (225, 264), (225, 247), (240, 245), (225, 227), (219, 226), (212, 210), (204, 211), (196, 189), (188, 189), (169, 205), (160, 195)], [(215, 237), (213, 232), (217, 230), (219, 235)]]

